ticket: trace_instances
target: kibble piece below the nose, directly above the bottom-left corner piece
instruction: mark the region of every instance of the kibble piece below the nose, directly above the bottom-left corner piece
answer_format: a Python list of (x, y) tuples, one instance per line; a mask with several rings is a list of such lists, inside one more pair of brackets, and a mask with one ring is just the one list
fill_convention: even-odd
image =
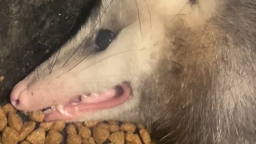
[(23, 126), (21, 117), (15, 113), (8, 114), (8, 124), (10, 127), (12, 127), (14, 130), (18, 132), (22, 129)]

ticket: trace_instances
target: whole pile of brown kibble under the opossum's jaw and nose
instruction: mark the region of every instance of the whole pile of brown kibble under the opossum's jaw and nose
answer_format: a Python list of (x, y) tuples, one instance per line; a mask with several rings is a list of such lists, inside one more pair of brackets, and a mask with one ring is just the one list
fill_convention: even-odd
[[(25, 118), (26, 120), (25, 120)], [(0, 144), (150, 144), (150, 133), (141, 124), (63, 121), (43, 122), (44, 113), (22, 113), (10, 103), (0, 106)]]

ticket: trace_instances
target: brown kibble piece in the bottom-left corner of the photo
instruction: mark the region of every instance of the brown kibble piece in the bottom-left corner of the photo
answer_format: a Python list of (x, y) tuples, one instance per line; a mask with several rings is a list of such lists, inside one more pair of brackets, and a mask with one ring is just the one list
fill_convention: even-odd
[(11, 127), (5, 127), (2, 133), (2, 143), (3, 144), (16, 144), (19, 141), (19, 133), (12, 129)]

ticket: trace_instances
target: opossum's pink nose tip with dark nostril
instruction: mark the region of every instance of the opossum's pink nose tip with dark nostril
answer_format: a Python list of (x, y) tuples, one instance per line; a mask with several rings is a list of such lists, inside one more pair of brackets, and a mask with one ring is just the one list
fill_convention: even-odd
[(13, 87), (10, 100), (12, 105), (17, 109), (25, 108), (26, 102), (28, 102), (27, 100), (23, 100), (24, 97), (22, 97), (22, 95), (28, 94), (27, 86), (28, 82), (24, 79)]

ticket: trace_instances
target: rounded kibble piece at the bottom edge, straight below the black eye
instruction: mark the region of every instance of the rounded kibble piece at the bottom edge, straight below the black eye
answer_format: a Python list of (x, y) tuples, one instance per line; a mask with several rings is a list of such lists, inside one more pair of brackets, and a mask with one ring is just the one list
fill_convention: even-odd
[(95, 141), (99, 144), (103, 143), (106, 141), (110, 135), (109, 131), (105, 129), (104, 127), (93, 127), (93, 137)]

